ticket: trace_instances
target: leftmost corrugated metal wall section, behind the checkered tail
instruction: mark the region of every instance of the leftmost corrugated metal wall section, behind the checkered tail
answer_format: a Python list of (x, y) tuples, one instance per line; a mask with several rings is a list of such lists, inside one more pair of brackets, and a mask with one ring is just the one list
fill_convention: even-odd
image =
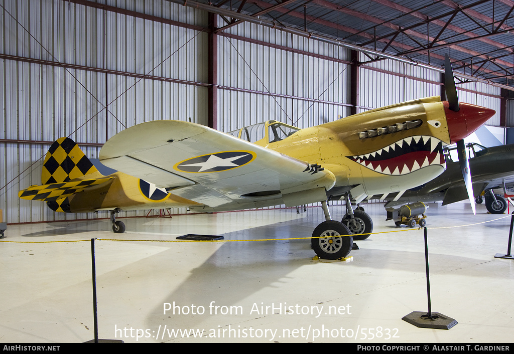
[(166, 21), (206, 27), (206, 13), (165, 0), (107, 2), (123, 6), (119, 12), (63, 0), (0, 4), (0, 208), (8, 222), (96, 217), (54, 213), (17, 196), (41, 183), (49, 143), (59, 137), (97, 158), (100, 147), (83, 144), (144, 121), (207, 125), (207, 34)]

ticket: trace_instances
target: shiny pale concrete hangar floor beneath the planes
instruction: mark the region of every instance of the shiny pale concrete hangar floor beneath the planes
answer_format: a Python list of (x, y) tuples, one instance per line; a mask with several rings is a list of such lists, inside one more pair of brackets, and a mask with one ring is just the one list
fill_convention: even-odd
[[(93, 237), (102, 239), (95, 241), (102, 339), (512, 342), (514, 261), (494, 258), (507, 251), (510, 216), (487, 214), (484, 204), (476, 216), (466, 203), (429, 205), (432, 311), (458, 322), (449, 330), (402, 321), (428, 311), (423, 230), (397, 228), (381, 204), (364, 204), (374, 231), (384, 233), (357, 241), (352, 262), (313, 260), (306, 239), (273, 240), (309, 237), (323, 220), (321, 208), (119, 219), (124, 234), (110, 231), (109, 220), (10, 225), (2, 241), (15, 242), (0, 242), (0, 342), (94, 339)], [(335, 219), (344, 212), (330, 209)], [(223, 235), (225, 242), (139, 241), (188, 233)]]

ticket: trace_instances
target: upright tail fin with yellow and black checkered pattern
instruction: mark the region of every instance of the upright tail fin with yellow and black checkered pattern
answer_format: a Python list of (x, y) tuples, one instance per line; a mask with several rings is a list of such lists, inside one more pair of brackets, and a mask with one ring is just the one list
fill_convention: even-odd
[(70, 138), (59, 138), (53, 142), (46, 154), (41, 182), (68, 182), (97, 171), (75, 141)]

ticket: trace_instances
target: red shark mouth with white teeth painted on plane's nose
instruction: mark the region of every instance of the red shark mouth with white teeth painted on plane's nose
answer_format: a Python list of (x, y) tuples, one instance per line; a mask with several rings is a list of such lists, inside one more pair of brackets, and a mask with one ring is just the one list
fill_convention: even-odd
[(446, 169), (443, 141), (425, 135), (399, 140), (373, 153), (346, 156), (364, 167), (386, 175), (405, 175), (429, 165)]

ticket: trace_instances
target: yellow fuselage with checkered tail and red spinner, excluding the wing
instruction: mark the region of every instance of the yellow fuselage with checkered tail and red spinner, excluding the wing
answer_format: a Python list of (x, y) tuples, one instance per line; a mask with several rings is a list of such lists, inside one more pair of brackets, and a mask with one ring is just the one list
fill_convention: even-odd
[[(414, 100), (305, 129), (289, 126), (290, 135), (280, 139), (272, 139), (270, 127), (285, 124), (269, 121), (264, 137), (252, 142), (331, 171), (336, 177), (333, 189), (350, 188), (356, 199), (389, 194), (417, 187), (441, 174), (445, 170), (443, 146), (469, 135), (494, 114), (482, 107), (461, 107), (460, 113), (453, 113), (438, 97)], [(245, 129), (236, 136), (244, 139)], [(250, 140), (248, 129), (245, 134)], [(84, 154), (66, 139), (56, 141), (45, 158), (43, 186), (21, 191), (21, 198), (44, 200), (52, 210), (71, 213), (201, 205), (121, 172), (103, 176), (81, 160)], [(70, 161), (69, 171), (56, 169), (65, 159)], [(103, 177), (108, 181), (100, 182)], [(77, 192), (73, 188), (81, 180), (100, 184)], [(58, 185), (45, 189), (51, 183)], [(50, 190), (53, 194), (49, 197), (45, 191)], [(270, 205), (273, 202), (270, 200)]]

